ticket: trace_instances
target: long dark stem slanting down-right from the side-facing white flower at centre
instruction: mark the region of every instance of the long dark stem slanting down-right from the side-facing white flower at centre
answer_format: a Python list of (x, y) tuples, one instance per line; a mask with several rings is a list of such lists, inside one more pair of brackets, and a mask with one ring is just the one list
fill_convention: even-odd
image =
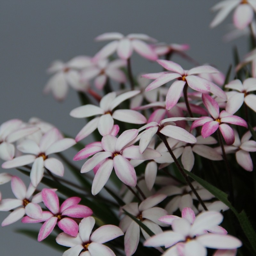
[(182, 167), (180, 166), (180, 163), (178, 162), (177, 158), (174, 156), (171, 147), (168, 144), (168, 141), (166, 140), (166, 137), (164, 134), (162, 134), (161, 132), (157, 132), (156, 133), (159, 138), (164, 142), (165, 147), (168, 149), (170, 155), (172, 156), (174, 163), (176, 164), (176, 166), (178, 167), (180, 173), (182, 174), (182, 176), (184, 177), (184, 179), (186, 180), (186, 182), (188, 183), (188, 186), (191, 188), (191, 190), (193, 191), (193, 193), (195, 194), (197, 200), (199, 201), (199, 203), (203, 206), (205, 211), (208, 211), (207, 207), (205, 206), (202, 198), (198, 195), (198, 193), (196, 192), (196, 189), (194, 188), (194, 186), (192, 185), (192, 183), (190, 182), (190, 180), (188, 179), (187, 174), (183, 171)]

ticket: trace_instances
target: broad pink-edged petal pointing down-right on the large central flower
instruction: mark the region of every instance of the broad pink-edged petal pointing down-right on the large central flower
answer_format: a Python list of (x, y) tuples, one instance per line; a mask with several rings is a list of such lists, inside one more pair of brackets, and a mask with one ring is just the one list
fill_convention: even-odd
[(114, 169), (117, 177), (124, 182), (124, 184), (131, 187), (136, 186), (137, 176), (130, 161), (121, 155), (117, 155), (114, 157)]

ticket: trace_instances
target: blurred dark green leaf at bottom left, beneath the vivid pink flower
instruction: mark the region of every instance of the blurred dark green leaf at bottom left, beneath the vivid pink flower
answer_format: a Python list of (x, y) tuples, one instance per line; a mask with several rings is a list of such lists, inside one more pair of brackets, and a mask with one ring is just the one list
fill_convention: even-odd
[[(33, 239), (35, 239), (37, 241), (37, 236), (38, 236), (38, 231), (35, 230), (31, 230), (31, 229), (16, 229), (15, 230), (16, 233), (31, 237)], [(60, 244), (56, 243), (56, 235), (52, 235), (50, 234), (48, 237), (46, 237), (43, 241), (41, 241), (40, 243), (43, 243), (49, 247), (52, 247), (53, 249), (60, 251), (60, 252), (64, 252), (65, 251), (65, 247), (61, 246)]]

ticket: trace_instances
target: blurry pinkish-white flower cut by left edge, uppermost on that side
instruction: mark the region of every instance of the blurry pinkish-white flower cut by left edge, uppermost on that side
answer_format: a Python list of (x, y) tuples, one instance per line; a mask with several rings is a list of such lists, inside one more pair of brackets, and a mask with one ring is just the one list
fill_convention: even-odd
[(11, 119), (0, 125), (0, 158), (11, 160), (15, 154), (13, 142), (39, 130), (35, 126), (26, 125), (20, 119)]

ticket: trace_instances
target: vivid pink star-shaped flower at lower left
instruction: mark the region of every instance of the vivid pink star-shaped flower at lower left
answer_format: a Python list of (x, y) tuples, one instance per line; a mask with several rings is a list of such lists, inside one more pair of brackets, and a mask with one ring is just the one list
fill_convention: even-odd
[(78, 204), (81, 201), (79, 197), (70, 197), (60, 206), (59, 198), (52, 189), (44, 188), (41, 194), (43, 203), (50, 212), (43, 212), (43, 218), (41, 219), (34, 219), (29, 216), (22, 219), (23, 223), (45, 221), (38, 234), (37, 240), (39, 242), (51, 234), (56, 224), (68, 235), (76, 236), (78, 225), (72, 218), (85, 218), (92, 215), (92, 210), (89, 207)]

